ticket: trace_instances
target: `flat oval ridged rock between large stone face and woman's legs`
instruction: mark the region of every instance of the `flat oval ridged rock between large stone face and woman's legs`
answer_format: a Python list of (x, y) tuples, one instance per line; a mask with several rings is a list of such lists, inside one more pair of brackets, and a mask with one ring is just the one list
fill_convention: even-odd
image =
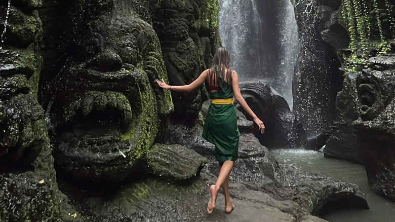
[(206, 158), (177, 144), (154, 144), (147, 155), (149, 173), (176, 180), (199, 175), (206, 162)]

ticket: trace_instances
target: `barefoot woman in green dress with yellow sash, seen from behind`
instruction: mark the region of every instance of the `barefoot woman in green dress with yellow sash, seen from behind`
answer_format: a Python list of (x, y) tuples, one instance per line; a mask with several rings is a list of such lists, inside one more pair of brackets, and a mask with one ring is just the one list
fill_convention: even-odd
[(244, 100), (239, 88), (238, 73), (231, 69), (229, 52), (225, 48), (217, 49), (212, 66), (204, 70), (191, 84), (170, 86), (163, 80), (157, 81), (157, 84), (163, 89), (188, 92), (198, 88), (205, 81), (209, 86), (211, 104), (204, 125), (203, 138), (215, 145), (215, 159), (219, 162), (217, 181), (210, 186), (211, 197), (207, 204), (207, 212), (213, 211), (219, 189), (222, 188), (225, 196), (225, 212), (230, 213), (234, 205), (229, 195), (229, 174), (238, 158), (240, 137), (233, 96), (253, 118), (261, 133), (264, 132), (265, 126)]

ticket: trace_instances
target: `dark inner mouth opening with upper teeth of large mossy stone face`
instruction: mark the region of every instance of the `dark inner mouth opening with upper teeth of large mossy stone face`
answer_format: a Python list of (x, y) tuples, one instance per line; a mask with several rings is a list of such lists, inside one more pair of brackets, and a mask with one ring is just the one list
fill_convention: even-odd
[[(109, 143), (120, 141), (123, 133), (129, 130), (133, 122), (131, 104), (123, 93), (113, 91), (87, 91), (69, 97), (69, 103), (60, 115), (62, 124), (58, 125), (56, 134), (60, 140), (76, 146), (76, 149), (94, 150), (95, 152), (119, 153)], [(78, 140), (75, 141), (75, 140)], [(108, 147), (100, 149), (106, 144)], [(91, 148), (93, 147), (93, 148)]]

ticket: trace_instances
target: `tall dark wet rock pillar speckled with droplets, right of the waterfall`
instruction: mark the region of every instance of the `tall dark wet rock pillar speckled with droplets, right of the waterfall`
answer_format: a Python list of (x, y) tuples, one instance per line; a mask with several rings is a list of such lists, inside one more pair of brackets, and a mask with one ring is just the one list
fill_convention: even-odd
[[(292, 0), (291, 3), (301, 45), (293, 77), (293, 111), (307, 137), (314, 137), (330, 131), (335, 117), (336, 93), (341, 90), (343, 81), (338, 69), (341, 64), (335, 48), (323, 40), (319, 31), (327, 23), (319, 19), (319, 16), (325, 17), (319, 13), (320, 3), (306, 0)], [(305, 13), (306, 6), (309, 13)], [(327, 33), (325, 37), (330, 40), (331, 35)]]

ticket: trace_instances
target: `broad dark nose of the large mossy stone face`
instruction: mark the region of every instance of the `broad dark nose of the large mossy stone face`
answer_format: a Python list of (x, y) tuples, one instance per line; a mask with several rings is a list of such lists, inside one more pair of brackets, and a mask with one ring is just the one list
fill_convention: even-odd
[(105, 50), (95, 56), (90, 64), (101, 71), (119, 70), (122, 67), (122, 59), (118, 54)]

